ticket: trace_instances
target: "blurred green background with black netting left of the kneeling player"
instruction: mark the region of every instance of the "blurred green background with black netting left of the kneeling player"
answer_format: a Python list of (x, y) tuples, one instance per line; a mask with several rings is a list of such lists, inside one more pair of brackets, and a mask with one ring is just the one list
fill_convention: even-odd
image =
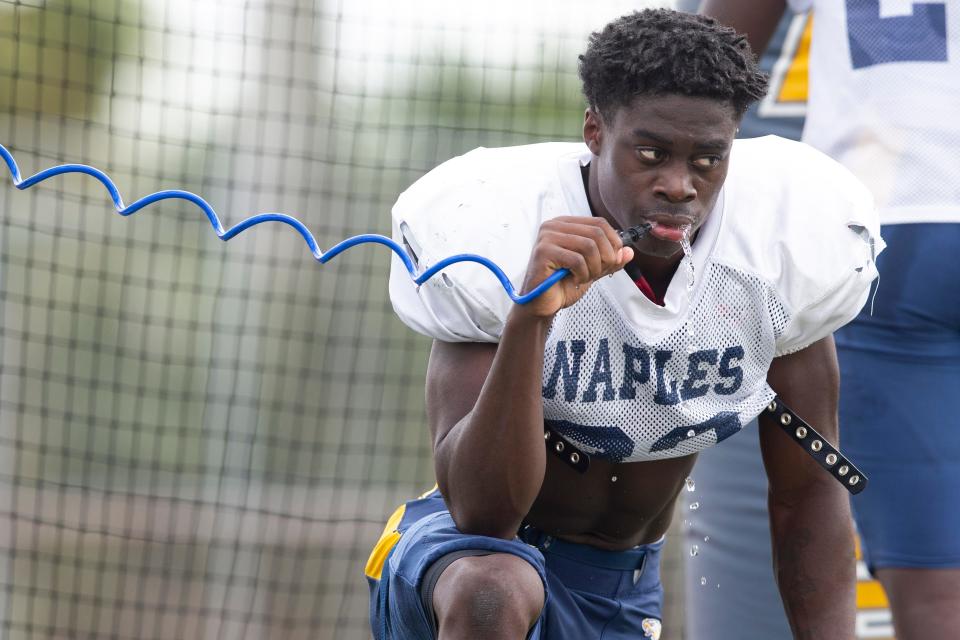
[[(0, 143), (329, 247), (449, 157), (578, 139), (587, 34), (648, 4), (0, 1)], [(79, 175), (0, 207), (0, 635), (369, 637), (366, 556), (433, 483), (388, 252)]]

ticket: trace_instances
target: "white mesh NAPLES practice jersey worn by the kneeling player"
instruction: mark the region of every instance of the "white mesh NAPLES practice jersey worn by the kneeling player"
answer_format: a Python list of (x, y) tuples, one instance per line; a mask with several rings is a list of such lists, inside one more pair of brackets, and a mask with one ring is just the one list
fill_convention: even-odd
[[(394, 237), (423, 270), (475, 253), (519, 290), (541, 223), (589, 216), (583, 144), (477, 149), (437, 167), (393, 209)], [(798, 142), (738, 140), (714, 210), (664, 298), (620, 271), (552, 323), (545, 419), (615, 461), (682, 456), (736, 433), (769, 403), (771, 360), (851, 320), (883, 243), (869, 192)], [(413, 329), (497, 342), (513, 302), (486, 268), (457, 264), (416, 287), (394, 258), (390, 296)]]

